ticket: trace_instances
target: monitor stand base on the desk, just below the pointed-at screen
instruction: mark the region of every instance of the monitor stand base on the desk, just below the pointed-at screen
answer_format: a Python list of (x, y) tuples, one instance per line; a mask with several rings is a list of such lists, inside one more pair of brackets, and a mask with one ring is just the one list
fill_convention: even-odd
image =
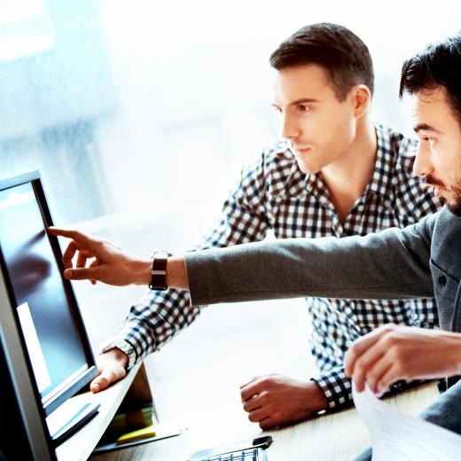
[(98, 402), (82, 402), (81, 399), (69, 399), (46, 418), (50, 436), (55, 445), (66, 441), (91, 418), (96, 416)]

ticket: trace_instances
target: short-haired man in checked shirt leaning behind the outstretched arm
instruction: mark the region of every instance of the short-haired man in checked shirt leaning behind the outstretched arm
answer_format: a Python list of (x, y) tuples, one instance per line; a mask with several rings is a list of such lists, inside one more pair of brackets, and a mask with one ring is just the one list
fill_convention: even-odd
[[(215, 230), (198, 248), (262, 240), (268, 230), (277, 238), (364, 235), (416, 223), (438, 209), (425, 181), (411, 173), (417, 143), (371, 120), (371, 57), (356, 35), (332, 24), (303, 27), (274, 51), (270, 64), (285, 141), (243, 170)], [(243, 386), (244, 409), (262, 428), (350, 403), (343, 359), (359, 336), (388, 323), (438, 325), (433, 300), (307, 302), (320, 374), (305, 382), (263, 376)], [(185, 291), (148, 293), (100, 356), (92, 391), (121, 379), (199, 311)]]

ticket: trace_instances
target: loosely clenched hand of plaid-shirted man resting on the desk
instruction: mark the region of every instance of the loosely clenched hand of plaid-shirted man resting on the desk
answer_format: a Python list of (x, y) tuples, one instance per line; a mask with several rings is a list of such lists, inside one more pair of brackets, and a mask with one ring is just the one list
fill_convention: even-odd
[(248, 419), (262, 429), (298, 422), (327, 408), (324, 392), (315, 381), (279, 374), (252, 379), (240, 387), (240, 395)]

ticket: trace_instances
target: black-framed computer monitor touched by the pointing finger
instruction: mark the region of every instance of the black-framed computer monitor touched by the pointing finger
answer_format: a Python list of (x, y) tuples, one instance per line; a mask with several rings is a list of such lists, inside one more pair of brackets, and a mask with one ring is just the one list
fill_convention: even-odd
[[(0, 310), (15, 323), (49, 415), (97, 375), (97, 366), (38, 172), (0, 181)], [(8, 324), (8, 322), (10, 324)]]

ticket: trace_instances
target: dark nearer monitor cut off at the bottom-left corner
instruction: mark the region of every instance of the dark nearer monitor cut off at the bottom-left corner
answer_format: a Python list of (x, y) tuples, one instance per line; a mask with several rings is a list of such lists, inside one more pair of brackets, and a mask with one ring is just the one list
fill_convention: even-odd
[(0, 460), (55, 461), (35, 377), (20, 347), (20, 331), (14, 320), (7, 318), (11, 311), (2, 309), (0, 316)]

